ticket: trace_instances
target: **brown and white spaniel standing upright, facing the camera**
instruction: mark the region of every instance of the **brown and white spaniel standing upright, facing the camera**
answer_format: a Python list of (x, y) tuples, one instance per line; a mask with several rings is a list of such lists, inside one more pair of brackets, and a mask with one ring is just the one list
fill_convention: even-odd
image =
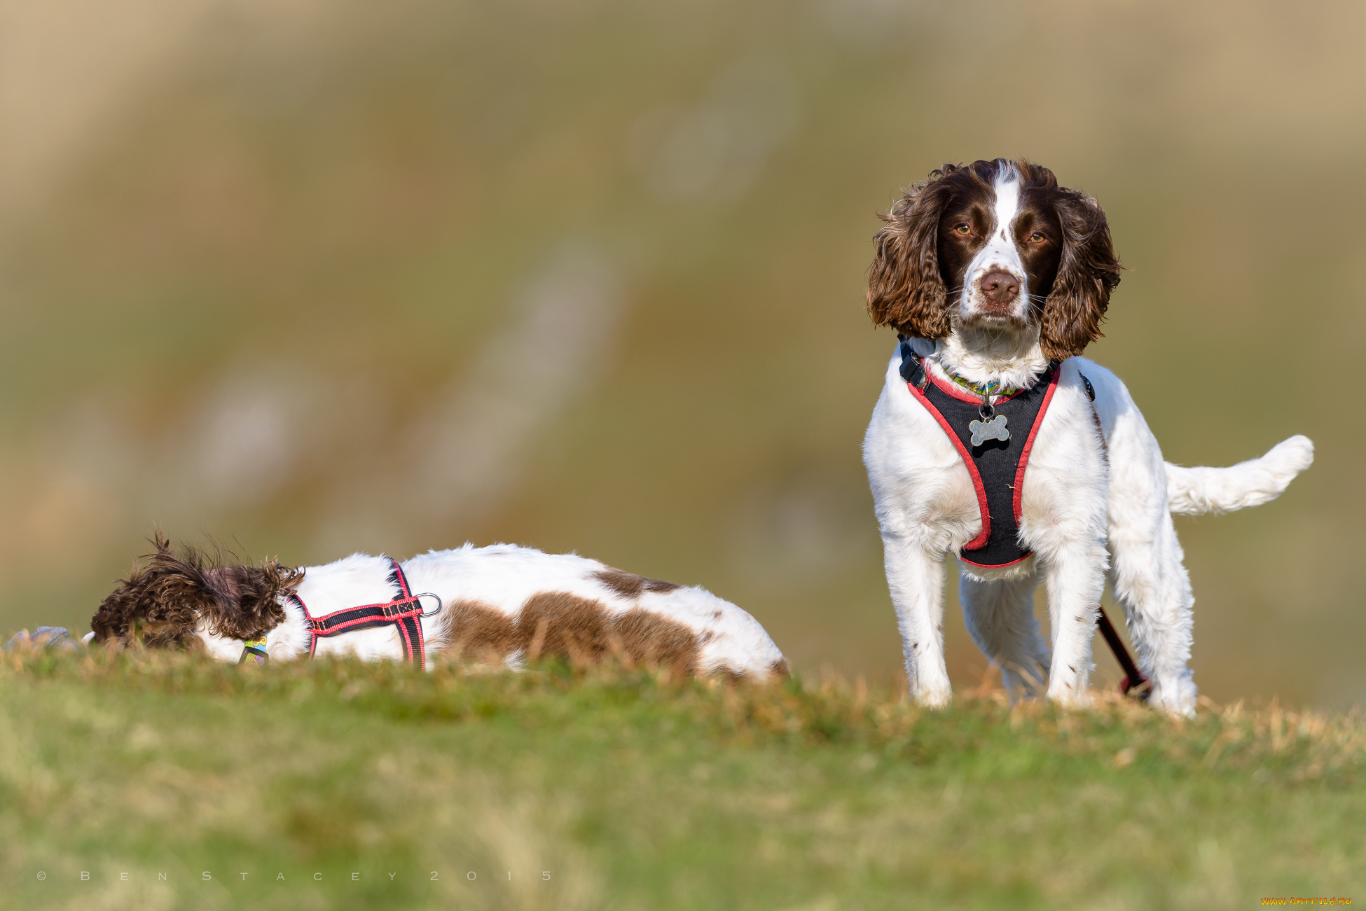
[[(1119, 260), (1094, 199), (1029, 163), (944, 165), (877, 234), (867, 307), (902, 344), (863, 443), (911, 691), (949, 701), (944, 557), (968, 632), (1012, 692), (1087, 699), (1106, 572), (1152, 680), (1193, 714), (1191, 589), (1171, 514), (1272, 500), (1313, 462), (1291, 437), (1229, 468), (1162, 462), (1124, 384), (1078, 355)], [(1034, 620), (1042, 576), (1052, 660)]]

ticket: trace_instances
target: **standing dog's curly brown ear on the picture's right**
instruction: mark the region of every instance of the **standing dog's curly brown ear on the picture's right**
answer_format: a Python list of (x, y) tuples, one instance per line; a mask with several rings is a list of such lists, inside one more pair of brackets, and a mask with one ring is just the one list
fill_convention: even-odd
[(1063, 190), (1056, 206), (1063, 225), (1063, 255), (1044, 302), (1040, 341), (1046, 356), (1061, 361), (1082, 354), (1101, 337), (1101, 320), (1111, 291), (1119, 284), (1120, 265), (1105, 213), (1094, 199)]

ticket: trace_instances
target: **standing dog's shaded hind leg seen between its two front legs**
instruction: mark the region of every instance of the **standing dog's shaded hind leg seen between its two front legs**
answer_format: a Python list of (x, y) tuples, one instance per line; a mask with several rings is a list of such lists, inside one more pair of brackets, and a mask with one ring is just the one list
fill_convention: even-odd
[(1011, 702), (1042, 692), (1048, 676), (1048, 647), (1034, 619), (1037, 586), (1033, 572), (1001, 580), (978, 579), (966, 571), (959, 575), (963, 623), (982, 654), (1000, 667)]

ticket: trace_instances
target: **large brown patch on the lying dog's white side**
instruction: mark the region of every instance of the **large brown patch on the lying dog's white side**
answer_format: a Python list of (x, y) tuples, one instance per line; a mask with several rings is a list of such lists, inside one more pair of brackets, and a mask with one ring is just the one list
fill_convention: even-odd
[(643, 608), (613, 615), (593, 598), (541, 591), (516, 617), (474, 601), (452, 604), (448, 616), (448, 647), (470, 657), (503, 660), (520, 651), (533, 661), (555, 656), (591, 664), (615, 656), (627, 664), (697, 672), (698, 634)]

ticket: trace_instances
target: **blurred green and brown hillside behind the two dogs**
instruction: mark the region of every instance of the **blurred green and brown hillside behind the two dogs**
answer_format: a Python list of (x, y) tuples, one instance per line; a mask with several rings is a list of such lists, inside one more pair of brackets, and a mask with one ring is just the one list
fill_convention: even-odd
[(1197, 682), (1361, 702), (1363, 26), (1258, 0), (3, 3), (0, 630), (87, 628), (154, 526), (299, 564), (512, 541), (703, 585), (798, 667), (895, 675), (869, 239), (930, 168), (1024, 156), (1109, 214), (1131, 272), (1089, 354), (1168, 459), (1318, 444), (1281, 500), (1179, 520)]

